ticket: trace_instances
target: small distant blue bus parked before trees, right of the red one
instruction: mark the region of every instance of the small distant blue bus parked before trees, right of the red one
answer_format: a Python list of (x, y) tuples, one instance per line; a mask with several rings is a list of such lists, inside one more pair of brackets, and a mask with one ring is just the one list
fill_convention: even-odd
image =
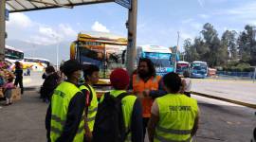
[(207, 62), (195, 61), (191, 63), (191, 77), (204, 79), (208, 75)]

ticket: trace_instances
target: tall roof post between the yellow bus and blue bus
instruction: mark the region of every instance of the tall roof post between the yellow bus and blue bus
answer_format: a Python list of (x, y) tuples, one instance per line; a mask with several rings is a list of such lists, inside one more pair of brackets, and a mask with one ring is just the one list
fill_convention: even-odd
[(135, 69), (136, 62), (136, 39), (137, 39), (137, 0), (132, 0), (132, 8), (128, 15), (128, 45), (126, 54), (126, 69), (129, 75)]

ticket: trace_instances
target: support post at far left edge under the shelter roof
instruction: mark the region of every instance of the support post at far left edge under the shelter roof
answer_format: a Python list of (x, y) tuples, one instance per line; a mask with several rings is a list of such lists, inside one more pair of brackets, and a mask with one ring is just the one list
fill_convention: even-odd
[(6, 47), (6, 0), (0, 0), (0, 61), (5, 60)]

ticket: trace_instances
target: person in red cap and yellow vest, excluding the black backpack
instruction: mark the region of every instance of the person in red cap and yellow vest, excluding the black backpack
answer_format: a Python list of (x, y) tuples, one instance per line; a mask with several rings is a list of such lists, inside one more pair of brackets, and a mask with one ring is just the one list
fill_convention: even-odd
[[(111, 96), (118, 98), (122, 93), (126, 93), (129, 86), (129, 75), (126, 70), (117, 68), (110, 75), (110, 82), (114, 90), (110, 92)], [(101, 98), (100, 103), (104, 97)], [(131, 142), (143, 142), (142, 127), (142, 107), (140, 101), (134, 95), (128, 95), (121, 99), (122, 114), (125, 129), (127, 130), (126, 140)]]

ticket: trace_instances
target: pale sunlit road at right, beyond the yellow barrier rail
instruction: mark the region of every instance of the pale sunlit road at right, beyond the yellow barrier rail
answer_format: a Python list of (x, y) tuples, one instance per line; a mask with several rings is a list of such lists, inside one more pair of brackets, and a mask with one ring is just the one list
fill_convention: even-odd
[(247, 80), (192, 80), (192, 91), (256, 104), (256, 82)]

